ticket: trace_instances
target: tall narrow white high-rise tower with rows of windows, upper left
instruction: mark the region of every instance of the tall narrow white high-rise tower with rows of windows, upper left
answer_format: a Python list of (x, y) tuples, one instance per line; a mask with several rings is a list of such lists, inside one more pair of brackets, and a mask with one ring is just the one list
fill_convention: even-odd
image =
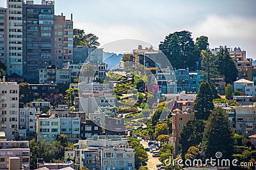
[(7, 73), (22, 75), (22, 4), (23, 0), (8, 0)]

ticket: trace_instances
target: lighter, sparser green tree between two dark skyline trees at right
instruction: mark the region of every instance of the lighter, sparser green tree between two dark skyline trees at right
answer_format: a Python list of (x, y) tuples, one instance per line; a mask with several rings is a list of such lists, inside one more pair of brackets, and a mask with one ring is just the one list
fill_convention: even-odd
[(207, 81), (210, 83), (211, 79), (215, 79), (218, 76), (217, 66), (218, 63), (216, 62), (216, 56), (212, 54), (210, 50), (202, 50), (202, 72), (205, 73)]

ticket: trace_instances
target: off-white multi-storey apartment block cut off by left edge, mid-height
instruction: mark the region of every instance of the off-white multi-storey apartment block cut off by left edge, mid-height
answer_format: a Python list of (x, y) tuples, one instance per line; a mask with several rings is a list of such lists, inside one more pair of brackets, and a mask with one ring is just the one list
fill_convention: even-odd
[[(4, 78), (5, 79), (5, 78)], [(0, 131), (7, 140), (13, 140), (19, 127), (19, 85), (17, 82), (0, 82)]]

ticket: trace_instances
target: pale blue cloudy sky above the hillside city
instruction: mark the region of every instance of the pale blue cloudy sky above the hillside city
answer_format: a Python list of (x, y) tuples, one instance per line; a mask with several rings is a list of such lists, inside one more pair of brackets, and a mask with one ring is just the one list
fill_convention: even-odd
[(56, 0), (54, 8), (67, 19), (73, 13), (74, 28), (97, 35), (101, 45), (129, 38), (158, 47), (166, 35), (187, 30), (194, 41), (207, 36), (211, 49), (241, 47), (256, 59), (255, 7), (255, 0)]

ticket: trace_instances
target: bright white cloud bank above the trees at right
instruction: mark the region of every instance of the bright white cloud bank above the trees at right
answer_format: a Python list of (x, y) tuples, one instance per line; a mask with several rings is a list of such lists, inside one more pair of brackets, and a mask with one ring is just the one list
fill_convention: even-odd
[(248, 17), (220, 17), (209, 15), (197, 22), (189, 31), (193, 33), (194, 40), (201, 35), (208, 36), (210, 47), (227, 45), (228, 47), (241, 47), (246, 50), (247, 58), (256, 58), (256, 18)]

